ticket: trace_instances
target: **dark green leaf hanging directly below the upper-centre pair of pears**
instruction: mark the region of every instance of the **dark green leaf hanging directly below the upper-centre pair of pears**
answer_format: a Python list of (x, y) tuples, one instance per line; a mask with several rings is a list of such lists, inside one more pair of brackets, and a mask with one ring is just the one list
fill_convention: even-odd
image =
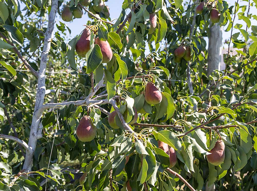
[(87, 53), (87, 73), (93, 72), (101, 63), (103, 55), (98, 44), (95, 44)]

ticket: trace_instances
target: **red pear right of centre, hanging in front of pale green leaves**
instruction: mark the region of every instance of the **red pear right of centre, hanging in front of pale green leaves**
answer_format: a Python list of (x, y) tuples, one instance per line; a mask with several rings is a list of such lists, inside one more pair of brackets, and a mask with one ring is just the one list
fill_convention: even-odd
[(145, 86), (145, 101), (150, 105), (159, 104), (162, 100), (162, 95), (159, 89), (151, 82)]

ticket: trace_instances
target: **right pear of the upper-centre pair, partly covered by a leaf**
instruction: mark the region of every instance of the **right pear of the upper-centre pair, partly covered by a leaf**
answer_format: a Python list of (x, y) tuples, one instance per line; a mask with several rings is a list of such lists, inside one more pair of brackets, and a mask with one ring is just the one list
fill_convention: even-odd
[(101, 52), (103, 54), (102, 63), (108, 63), (111, 61), (113, 53), (108, 41), (101, 41), (98, 37), (95, 39), (95, 44), (100, 46)]

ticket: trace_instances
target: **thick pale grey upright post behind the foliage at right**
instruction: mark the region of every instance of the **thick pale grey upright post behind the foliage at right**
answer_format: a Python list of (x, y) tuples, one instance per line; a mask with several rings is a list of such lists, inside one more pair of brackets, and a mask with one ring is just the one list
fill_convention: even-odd
[(217, 25), (210, 27), (209, 44), (208, 44), (208, 67), (207, 76), (211, 75), (214, 70), (221, 70), (222, 57), (222, 28)]

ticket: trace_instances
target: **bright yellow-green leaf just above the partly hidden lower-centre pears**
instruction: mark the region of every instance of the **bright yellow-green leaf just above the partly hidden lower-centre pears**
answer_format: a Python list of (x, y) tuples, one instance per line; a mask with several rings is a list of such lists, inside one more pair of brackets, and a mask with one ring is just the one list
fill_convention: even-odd
[(171, 146), (175, 150), (181, 149), (181, 143), (180, 143), (178, 137), (169, 130), (159, 131), (158, 138), (160, 141), (167, 143), (169, 146)]

